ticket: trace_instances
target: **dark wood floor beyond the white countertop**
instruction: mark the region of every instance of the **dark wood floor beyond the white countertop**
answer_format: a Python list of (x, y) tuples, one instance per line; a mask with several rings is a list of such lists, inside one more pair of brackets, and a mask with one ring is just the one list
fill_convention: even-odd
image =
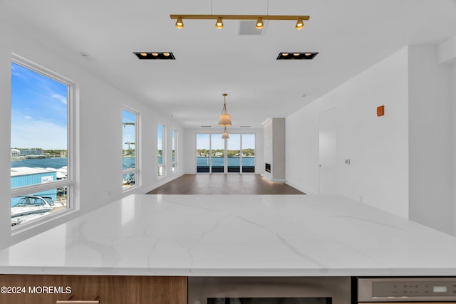
[(305, 194), (259, 174), (185, 174), (147, 194)]

